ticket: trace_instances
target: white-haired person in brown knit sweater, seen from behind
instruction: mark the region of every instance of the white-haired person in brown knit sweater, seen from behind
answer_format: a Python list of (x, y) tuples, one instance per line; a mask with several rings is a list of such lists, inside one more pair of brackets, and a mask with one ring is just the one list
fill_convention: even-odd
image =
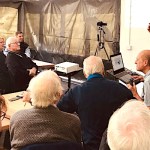
[(12, 150), (26, 145), (56, 141), (81, 142), (77, 116), (56, 107), (62, 92), (61, 81), (53, 71), (43, 71), (28, 86), (33, 108), (16, 112), (10, 119)]

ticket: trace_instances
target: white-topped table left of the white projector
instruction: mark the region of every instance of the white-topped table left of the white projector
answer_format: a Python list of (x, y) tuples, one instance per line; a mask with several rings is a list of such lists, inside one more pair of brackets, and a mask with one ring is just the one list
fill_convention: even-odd
[(44, 69), (54, 69), (55, 65), (53, 63), (49, 63), (49, 62), (44, 62), (44, 61), (40, 61), (40, 60), (32, 60), (34, 63), (36, 63), (36, 65), (38, 66), (38, 68), (40, 70), (44, 70)]

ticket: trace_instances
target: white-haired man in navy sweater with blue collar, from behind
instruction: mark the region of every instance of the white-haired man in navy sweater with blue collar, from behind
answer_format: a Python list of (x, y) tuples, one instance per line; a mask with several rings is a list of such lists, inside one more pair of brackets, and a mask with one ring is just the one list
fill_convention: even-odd
[(78, 114), (85, 150), (98, 150), (110, 116), (132, 98), (132, 93), (120, 83), (104, 78), (100, 57), (86, 58), (83, 72), (87, 81), (70, 89), (57, 106), (62, 111)]

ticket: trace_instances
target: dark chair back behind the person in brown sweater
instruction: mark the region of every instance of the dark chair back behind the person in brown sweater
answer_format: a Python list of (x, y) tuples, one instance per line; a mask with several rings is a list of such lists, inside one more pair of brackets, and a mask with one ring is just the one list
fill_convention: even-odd
[(83, 150), (83, 147), (79, 143), (59, 141), (52, 143), (31, 144), (21, 150)]

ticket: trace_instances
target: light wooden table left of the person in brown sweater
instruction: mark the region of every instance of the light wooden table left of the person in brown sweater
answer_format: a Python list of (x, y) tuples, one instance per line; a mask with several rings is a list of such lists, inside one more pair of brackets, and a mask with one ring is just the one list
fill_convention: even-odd
[(22, 101), (22, 98), (13, 102), (10, 102), (9, 99), (16, 97), (17, 95), (21, 95), (23, 91), (21, 92), (15, 92), (15, 93), (10, 93), (10, 94), (4, 94), (4, 98), (6, 100), (6, 105), (7, 105), (7, 112), (6, 112), (6, 117), (2, 121), (2, 130), (6, 130), (9, 128), (9, 119), (10, 117), (17, 111), (22, 110), (22, 109), (29, 109), (32, 108), (30, 103), (26, 103)]

